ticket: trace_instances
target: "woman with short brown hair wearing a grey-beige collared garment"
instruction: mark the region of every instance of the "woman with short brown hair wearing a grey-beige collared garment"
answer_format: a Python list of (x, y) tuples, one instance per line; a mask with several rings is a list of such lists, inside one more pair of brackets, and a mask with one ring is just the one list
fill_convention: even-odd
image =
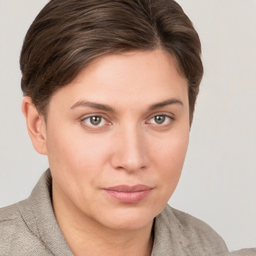
[(227, 253), (207, 224), (166, 205), (203, 71), (176, 2), (51, 0), (20, 67), (27, 129), (50, 168), (1, 210), (2, 254)]

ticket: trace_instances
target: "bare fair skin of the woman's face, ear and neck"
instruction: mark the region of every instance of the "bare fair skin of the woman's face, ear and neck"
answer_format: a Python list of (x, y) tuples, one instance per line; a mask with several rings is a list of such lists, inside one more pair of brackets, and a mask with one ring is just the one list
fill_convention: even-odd
[[(153, 219), (177, 185), (189, 138), (187, 81), (174, 63), (160, 49), (96, 59), (55, 92), (46, 124), (24, 97), (28, 132), (48, 156), (54, 212), (75, 255), (150, 255)], [(101, 118), (96, 125), (93, 116)], [(105, 190), (120, 184), (151, 189), (125, 203)]]

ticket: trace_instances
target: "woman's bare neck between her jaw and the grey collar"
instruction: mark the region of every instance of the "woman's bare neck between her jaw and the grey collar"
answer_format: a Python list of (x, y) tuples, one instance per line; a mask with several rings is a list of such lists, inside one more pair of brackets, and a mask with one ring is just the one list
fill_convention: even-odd
[(84, 215), (70, 201), (59, 201), (54, 192), (52, 201), (58, 225), (75, 256), (151, 255), (153, 221), (135, 230), (112, 229)]

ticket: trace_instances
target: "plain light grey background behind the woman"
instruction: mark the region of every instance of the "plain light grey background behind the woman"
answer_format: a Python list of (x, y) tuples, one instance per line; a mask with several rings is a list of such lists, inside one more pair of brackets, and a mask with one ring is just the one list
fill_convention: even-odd
[[(46, 0), (0, 0), (0, 206), (26, 198), (47, 158), (20, 103), (23, 37)], [(256, 0), (179, 0), (202, 41), (205, 74), (180, 182), (169, 203), (230, 250), (256, 246)]]

